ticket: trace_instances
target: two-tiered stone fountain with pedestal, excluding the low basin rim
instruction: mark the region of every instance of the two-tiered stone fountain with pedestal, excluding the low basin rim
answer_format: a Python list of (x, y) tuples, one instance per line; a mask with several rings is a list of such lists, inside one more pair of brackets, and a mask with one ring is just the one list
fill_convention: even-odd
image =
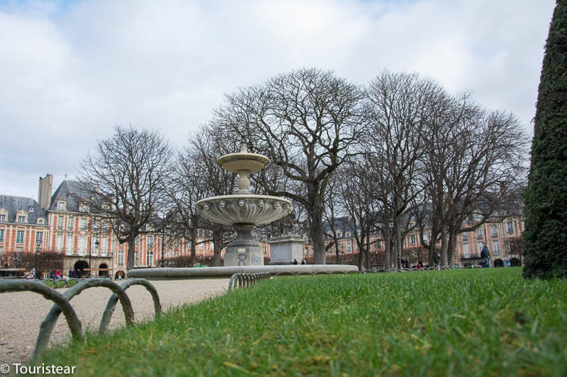
[(226, 247), (225, 266), (262, 266), (264, 255), (250, 232), (256, 226), (269, 224), (291, 212), (291, 202), (281, 197), (250, 193), (248, 175), (264, 168), (269, 158), (249, 153), (247, 144), (240, 144), (239, 153), (218, 158), (218, 165), (238, 174), (238, 192), (235, 195), (208, 197), (196, 203), (197, 211), (213, 223), (232, 226), (237, 236)]

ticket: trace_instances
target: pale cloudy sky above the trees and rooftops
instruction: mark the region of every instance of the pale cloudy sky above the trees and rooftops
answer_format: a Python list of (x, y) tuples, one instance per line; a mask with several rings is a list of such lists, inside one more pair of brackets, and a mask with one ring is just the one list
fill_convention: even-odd
[[(532, 134), (554, 0), (0, 0), (0, 194), (56, 187), (116, 124), (176, 147), (223, 95), (301, 67), (417, 71)], [(54, 189), (55, 189), (54, 187)]]

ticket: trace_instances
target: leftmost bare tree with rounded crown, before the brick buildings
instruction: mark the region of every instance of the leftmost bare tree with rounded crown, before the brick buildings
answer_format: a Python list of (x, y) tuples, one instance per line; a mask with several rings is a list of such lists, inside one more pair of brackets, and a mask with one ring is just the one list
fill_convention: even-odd
[(90, 210), (111, 221), (118, 242), (128, 243), (127, 269), (134, 267), (136, 236), (164, 209), (171, 155), (163, 134), (116, 126), (113, 137), (98, 140), (81, 163), (79, 181)]

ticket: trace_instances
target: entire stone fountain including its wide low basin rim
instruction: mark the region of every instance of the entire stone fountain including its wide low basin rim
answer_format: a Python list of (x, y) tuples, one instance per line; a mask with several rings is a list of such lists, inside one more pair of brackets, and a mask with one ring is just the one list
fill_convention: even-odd
[[(250, 232), (258, 225), (268, 224), (281, 219), (291, 212), (291, 202), (281, 197), (253, 195), (250, 193), (248, 175), (264, 168), (269, 163), (266, 156), (249, 153), (247, 144), (240, 144), (239, 153), (229, 153), (218, 158), (217, 163), (232, 173), (237, 173), (238, 193), (220, 197), (208, 197), (196, 203), (201, 216), (214, 223), (232, 226), (237, 236), (226, 248), (224, 267), (161, 267), (131, 269), (128, 277), (144, 279), (187, 279), (193, 277), (230, 277), (238, 272), (254, 273), (310, 273), (319, 272), (357, 272), (356, 266), (350, 265), (269, 265), (264, 266), (264, 255), (257, 240)], [(298, 237), (298, 236), (283, 236)], [(280, 245), (288, 239), (272, 239), (270, 247), (274, 249), (273, 259), (278, 263), (290, 263), (291, 257), (303, 254), (303, 240), (295, 240), (297, 245), (289, 249), (289, 245)], [(299, 237), (301, 238), (301, 237)], [(285, 247), (284, 247), (285, 246)], [(289, 250), (288, 250), (289, 249)], [(283, 250), (283, 251), (282, 251)], [(291, 251), (290, 251), (291, 250)], [(295, 251), (294, 251), (295, 250)]]

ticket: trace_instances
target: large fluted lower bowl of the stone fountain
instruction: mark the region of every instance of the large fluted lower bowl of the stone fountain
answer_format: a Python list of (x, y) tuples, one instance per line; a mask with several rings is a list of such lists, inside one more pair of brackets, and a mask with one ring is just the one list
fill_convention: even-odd
[(199, 200), (196, 209), (213, 223), (261, 225), (287, 216), (291, 212), (291, 202), (268, 195), (223, 195)]

